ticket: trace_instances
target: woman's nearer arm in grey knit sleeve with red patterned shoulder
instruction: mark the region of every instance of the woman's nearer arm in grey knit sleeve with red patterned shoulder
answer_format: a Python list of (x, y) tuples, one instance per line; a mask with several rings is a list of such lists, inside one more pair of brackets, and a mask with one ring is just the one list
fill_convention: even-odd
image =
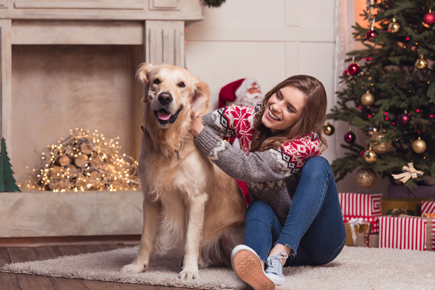
[(247, 182), (281, 180), (298, 172), (312, 156), (319, 154), (319, 140), (309, 134), (278, 149), (245, 154), (222, 141), (205, 126), (198, 132), (195, 144), (211, 161), (229, 176)]

